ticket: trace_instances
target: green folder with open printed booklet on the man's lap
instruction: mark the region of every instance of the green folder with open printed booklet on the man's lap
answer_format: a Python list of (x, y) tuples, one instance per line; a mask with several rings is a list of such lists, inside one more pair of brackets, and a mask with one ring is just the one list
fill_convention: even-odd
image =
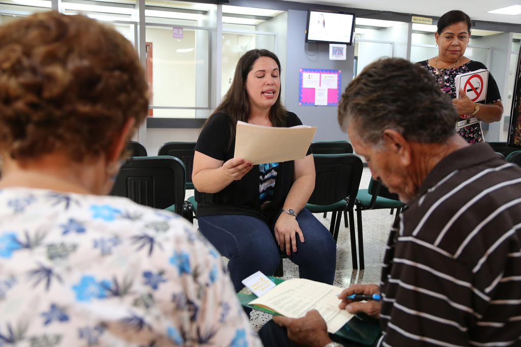
[[(267, 277), (274, 281), (277, 286), (263, 294), (261, 299), (257, 299), (257, 295), (244, 287), (237, 293), (237, 298), (242, 305), (251, 307), (252, 309), (264, 311), (272, 315), (282, 314), (280, 311), (280, 305), (293, 305), (294, 307), (288, 307), (288, 309), (290, 311), (300, 312), (298, 314), (299, 316), (304, 316), (307, 311), (315, 309), (320, 312), (326, 321), (334, 318), (336, 316), (336, 312), (344, 311), (346, 315), (342, 314), (342, 318), (340, 319), (345, 320), (347, 323), (345, 323), (340, 329), (336, 330), (334, 332), (335, 335), (367, 346), (374, 345), (376, 340), (380, 337), (381, 330), (378, 319), (369, 317), (364, 313), (351, 315), (349, 312), (340, 310), (338, 308), (340, 300), (337, 298), (337, 294), (342, 291), (342, 288), (307, 279), (294, 278), (284, 281), (283, 279), (277, 277)], [(285, 282), (289, 282), (289, 285), (278, 288)], [(319, 289), (315, 290), (316, 288)], [(270, 292), (272, 293), (268, 295)], [(279, 296), (277, 297), (278, 293)], [(260, 300), (259, 304), (257, 304), (257, 300)], [(290, 301), (292, 304), (290, 304)], [(325, 316), (323, 313), (324, 310), (320, 310), (319, 307), (322, 305), (326, 307), (326, 310), (330, 311), (329, 316), (327, 316), (327, 314)], [(284, 309), (283, 311), (285, 312), (286, 310)], [(288, 317), (295, 317), (293, 314), (283, 315)], [(333, 325), (331, 325), (330, 327), (330, 324), (328, 323), (328, 331), (332, 331), (334, 329), (336, 329), (336, 326), (333, 327)]]

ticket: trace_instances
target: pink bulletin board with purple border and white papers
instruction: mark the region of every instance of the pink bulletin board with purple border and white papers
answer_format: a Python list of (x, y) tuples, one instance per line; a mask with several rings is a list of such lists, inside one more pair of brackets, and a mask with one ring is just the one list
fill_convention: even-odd
[(337, 106), (342, 70), (300, 69), (299, 105)]

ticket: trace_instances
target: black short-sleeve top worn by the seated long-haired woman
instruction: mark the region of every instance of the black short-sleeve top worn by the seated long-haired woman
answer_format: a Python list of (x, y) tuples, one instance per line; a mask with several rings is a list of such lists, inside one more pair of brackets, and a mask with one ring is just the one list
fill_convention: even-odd
[[(217, 160), (227, 161), (233, 158), (235, 138), (228, 147), (230, 124), (232, 120), (227, 113), (216, 113), (210, 117), (203, 127), (195, 150)], [(302, 125), (295, 113), (288, 112), (286, 127)], [(311, 153), (311, 147), (307, 154)], [(281, 162), (277, 165), (275, 186), (268, 208), (261, 209), (261, 192), (259, 179), (261, 170), (254, 165), (242, 179), (233, 181), (216, 193), (195, 192), (197, 216), (239, 214), (257, 217), (269, 223), (282, 207), (293, 182), (294, 161)]]

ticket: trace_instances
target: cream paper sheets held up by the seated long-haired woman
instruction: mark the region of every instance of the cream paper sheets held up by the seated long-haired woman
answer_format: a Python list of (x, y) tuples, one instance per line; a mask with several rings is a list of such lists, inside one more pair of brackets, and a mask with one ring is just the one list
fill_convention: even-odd
[(254, 165), (302, 159), (316, 130), (316, 126), (272, 127), (238, 121), (234, 157)]

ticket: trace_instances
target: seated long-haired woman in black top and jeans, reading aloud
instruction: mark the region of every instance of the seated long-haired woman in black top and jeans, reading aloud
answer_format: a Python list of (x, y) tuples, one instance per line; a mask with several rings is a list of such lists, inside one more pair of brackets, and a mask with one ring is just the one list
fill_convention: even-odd
[(300, 277), (332, 284), (335, 242), (304, 208), (315, 186), (311, 150), (304, 159), (261, 165), (234, 158), (237, 121), (302, 124), (281, 104), (280, 62), (266, 49), (239, 59), (229, 91), (197, 139), (192, 181), (201, 232), (230, 260), (235, 290), (257, 271), (272, 275), (279, 249), (299, 265)]

